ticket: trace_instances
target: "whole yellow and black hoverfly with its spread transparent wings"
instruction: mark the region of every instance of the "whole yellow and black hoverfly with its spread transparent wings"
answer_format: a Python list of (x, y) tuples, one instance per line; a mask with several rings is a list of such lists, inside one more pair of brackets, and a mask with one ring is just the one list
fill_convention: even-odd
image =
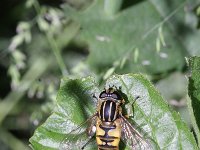
[[(98, 150), (119, 150), (122, 140), (132, 150), (150, 150), (150, 143), (122, 115), (125, 100), (120, 92), (109, 87), (100, 93), (96, 113), (87, 119), (61, 143), (62, 150), (78, 150), (87, 147), (94, 138)], [(82, 127), (87, 129), (82, 131)], [(83, 138), (89, 138), (87, 142)], [(93, 140), (94, 141), (94, 140)]]

